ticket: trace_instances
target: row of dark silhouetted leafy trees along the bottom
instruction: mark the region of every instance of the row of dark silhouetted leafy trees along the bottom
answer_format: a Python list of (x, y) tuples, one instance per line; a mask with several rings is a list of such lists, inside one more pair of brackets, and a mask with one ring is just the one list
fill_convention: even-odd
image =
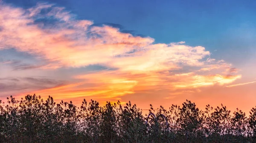
[(56, 104), (51, 96), (10, 96), (0, 101), (0, 140), (4, 143), (253, 143), (256, 108), (250, 115), (224, 105), (204, 110), (186, 100), (182, 106), (154, 109), (143, 115), (136, 104), (85, 99)]

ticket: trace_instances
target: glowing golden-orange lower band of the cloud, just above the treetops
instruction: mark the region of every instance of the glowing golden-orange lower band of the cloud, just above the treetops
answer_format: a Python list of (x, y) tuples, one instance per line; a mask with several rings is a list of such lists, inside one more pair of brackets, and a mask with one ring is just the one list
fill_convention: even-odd
[[(195, 73), (174, 74), (147, 73), (131, 74), (116, 71), (102, 71), (75, 76), (84, 80), (78, 84), (67, 84), (45, 90), (33, 91), (42, 96), (52, 95), (56, 99), (65, 98), (96, 98), (106, 100), (121, 100), (123, 95), (148, 91), (166, 90), (166, 98), (169, 95), (182, 95), (184, 93), (197, 93), (200, 88), (232, 83), (241, 76), (199, 76)], [(80, 99), (80, 100), (81, 100)]]

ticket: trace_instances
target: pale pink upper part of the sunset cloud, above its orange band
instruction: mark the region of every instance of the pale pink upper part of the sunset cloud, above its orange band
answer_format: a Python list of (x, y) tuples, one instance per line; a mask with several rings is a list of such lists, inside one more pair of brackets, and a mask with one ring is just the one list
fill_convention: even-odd
[[(41, 29), (39, 25), (31, 24), (33, 17), (44, 8), (52, 8), (44, 17), (53, 16), (66, 23), (56, 23), (60, 27), (58, 30)], [(63, 8), (49, 4), (40, 4), (28, 11), (1, 5), (0, 20), (5, 21), (0, 25), (3, 28), (1, 47), (14, 47), (19, 51), (41, 55), (58, 64), (47, 67), (104, 64), (123, 70), (168, 70), (177, 68), (178, 63), (200, 66), (203, 65), (200, 60), (209, 55), (209, 51), (200, 46), (152, 44), (154, 39), (150, 37), (121, 33), (119, 29), (107, 25), (88, 30), (93, 22), (70, 17)], [(70, 29), (70, 26), (73, 28)], [(88, 33), (89, 37), (86, 36)], [(134, 49), (137, 51), (125, 56)], [(121, 57), (116, 57), (118, 55)]]

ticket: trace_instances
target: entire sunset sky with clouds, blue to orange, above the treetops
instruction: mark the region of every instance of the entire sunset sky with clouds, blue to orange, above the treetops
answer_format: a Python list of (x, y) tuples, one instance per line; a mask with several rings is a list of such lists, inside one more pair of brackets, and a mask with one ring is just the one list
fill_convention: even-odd
[(254, 0), (0, 0), (0, 100), (51, 95), (249, 112)]

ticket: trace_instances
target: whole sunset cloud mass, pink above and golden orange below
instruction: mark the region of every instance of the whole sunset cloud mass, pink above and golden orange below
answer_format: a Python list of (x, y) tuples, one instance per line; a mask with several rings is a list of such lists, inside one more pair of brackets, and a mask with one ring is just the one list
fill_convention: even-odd
[[(53, 23), (44, 22), (47, 20)], [(0, 50), (15, 48), (44, 61), (42, 66), (21, 65), (19, 70), (79, 69), (94, 64), (116, 69), (74, 76), (79, 82), (31, 88), (31, 92), (41, 95), (120, 98), (146, 90), (166, 90), (169, 95), (177, 90), (198, 92), (199, 88), (223, 86), (241, 78), (231, 64), (210, 59), (210, 52), (204, 47), (183, 45), (185, 42), (154, 43), (151, 37), (121, 32), (120, 25), (76, 20), (64, 8), (52, 4), (39, 3), (23, 9), (1, 3), (0, 27)], [(189, 73), (175, 72), (185, 66), (191, 67)], [(51, 84), (46, 80), (25, 80)]]

